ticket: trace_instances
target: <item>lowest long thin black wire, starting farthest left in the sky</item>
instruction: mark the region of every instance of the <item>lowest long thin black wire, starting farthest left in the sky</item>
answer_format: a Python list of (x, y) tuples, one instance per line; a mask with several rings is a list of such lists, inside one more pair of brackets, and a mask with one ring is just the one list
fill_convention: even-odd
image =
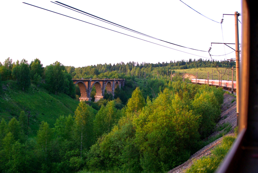
[[(23, 3), (25, 3), (25, 2), (23, 2)], [(28, 4), (28, 3), (25, 3), (25, 4)], [(38, 6), (35, 6), (35, 5), (32, 5), (32, 4), (28, 4), (28, 5), (31, 5), (31, 6), (34, 6), (34, 7), (37, 7), (37, 8), (43, 9), (43, 10), (46, 10), (46, 11), (50, 11), (50, 12), (53, 12), (53, 13), (56, 13), (56, 14), (60, 14), (60, 15), (63, 15), (63, 16), (66, 16), (66, 17), (69, 17), (69, 18), (72, 18), (72, 19), (75, 19), (75, 20), (79, 20), (79, 21), (82, 21), (82, 22), (85, 22), (85, 23), (88, 23), (88, 24), (92, 24), (92, 25), (94, 25), (94, 26), (98, 26), (98, 27), (101, 27), (101, 28), (104, 28), (104, 29), (108, 29), (108, 28), (105, 28), (105, 27), (102, 27), (102, 26), (99, 26), (99, 25), (96, 25), (96, 24), (93, 24), (93, 23), (90, 23), (90, 22), (86, 22), (86, 21), (83, 21), (83, 20), (80, 20), (80, 19), (76, 19), (76, 18), (73, 18), (73, 17), (67, 16), (67, 15), (65, 15), (65, 14), (61, 14), (61, 13), (57, 13), (57, 12), (54, 12), (54, 11), (51, 11), (51, 10), (47, 10), (47, 9), (42, 8), (42, 7), (38, 7)], [(110, 31), (114, 31), (114, 32), (117, 32), (117, 33), (120, 33), (120, 34), (123, 34), (123, 35), (127, 35), (127, 36), (130, 36), (130, 37), (133, 37), (133, 38), (137, 38), (137, 39), (140, 39), (140, 40), (143, 40), (143, 41), (149, 42), (149, 43), (153, 43), (153, 42), (150, 42), (150, 41), (147, 41), (147, 40), (144, 40), (144, 39), (138, 38), (138, 37), (134, 37), (134, 36), (131, 36), (131, 35), (128, 35), (128, 34), (124, 34), (124, 33), (122, 33), (122, 32), (118, 32), (118, 31), (112, 30), (112, 29), (108, 29), (108, 30), (110, 30)], [(160, 45), (160, 44), (157, 44), (157, 43), (153, 43), (153, 44)], [(164, 45), (160, 45), (160, 46), (167, 47), (167, 46), (164, 46)], [(171, 48), (171, 47), (167, 47), (167, 48), (170, 48), (170, 49), (173, 49), (173, 50), (176, 50), (176, 51), (180, 51), (180, 50), (177, 50), (177, 49), (174, 49), (174, 48)], [(184, 52), (184, 51), (180, 51), (180, 52)], [(188, 52), (184, 52), (184, 53), (191, 54), (191, 55), (195, 55), (195, 54), (188, 53)], [(200, 55), (195, 55), (195, 56), (199, 56), (199, 57), (207, 58), (207, 57), (200, 56)], [(207, 58), (207, 59), (211, 59), (211, 58)]]

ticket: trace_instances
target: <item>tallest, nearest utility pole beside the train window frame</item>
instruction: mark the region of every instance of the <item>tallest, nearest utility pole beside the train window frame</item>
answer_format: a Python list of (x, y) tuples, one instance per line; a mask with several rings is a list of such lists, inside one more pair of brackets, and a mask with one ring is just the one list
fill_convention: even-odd
[[(236, 37), (236, 87), (237, 87), (237, 125), (238, 125), (238, 114), (239, 114), (239, 36), (238, 36), (238, 16), (240, 14), (235, 12), (235, 37)], [(233, 77), (233, 76), (232, 76)]]

